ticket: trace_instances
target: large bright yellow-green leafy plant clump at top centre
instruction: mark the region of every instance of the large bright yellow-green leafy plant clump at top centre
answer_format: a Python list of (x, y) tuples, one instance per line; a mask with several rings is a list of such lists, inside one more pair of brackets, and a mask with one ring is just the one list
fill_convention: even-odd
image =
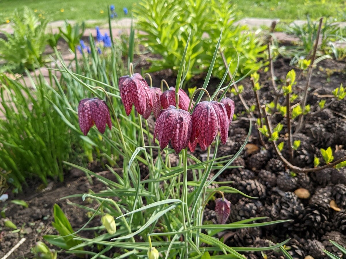
[[(141, 43), (162, 59), (152, 61), (149, 71), (172, 68), (177, 71), (184, 45), (192, 30), (191, 44), (187, 50), (187, 79), (208, 69), (222, 30), (220, 48), (224, 51), (231, 71), (237, 66), (239, 54), (239, 74), (257, 70), (262, 62), (265, 47), (253, 33), (243, 32), (245, 26), (234, 25), (233, 10), (227, 0), (143, 0), (135, 8), (137, 28)], [(145, 15), (144, 15), (145, 14)], [(222, 58), (217, 57), (213, 75), (221, 78), (225, 67)]]

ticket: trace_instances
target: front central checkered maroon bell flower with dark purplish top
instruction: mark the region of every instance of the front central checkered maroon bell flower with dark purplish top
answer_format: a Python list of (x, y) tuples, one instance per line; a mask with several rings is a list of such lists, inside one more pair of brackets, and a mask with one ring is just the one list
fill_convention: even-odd
[(157, 135), (161, 149), (165, 148), (171, 141), (175, 153), (178, 154), (183, 148), (188, 146), (191, 129), (191, 114), (170, 106), (167, 109), (162, 109), (157, 118), (154, 129), (154, 141)]

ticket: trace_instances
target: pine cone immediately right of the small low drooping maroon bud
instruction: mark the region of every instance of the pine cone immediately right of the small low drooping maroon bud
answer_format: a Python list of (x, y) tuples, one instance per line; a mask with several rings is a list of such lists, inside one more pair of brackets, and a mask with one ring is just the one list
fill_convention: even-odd
[(259, 217), (261, 210), (263, 210), (263, 204), (260, 201), (255, 201), (255, 203), (244, 197), (240, 199), (235, 207), (231, 209), (230, 219), (231, 222), (236, 222), (244, 219)]

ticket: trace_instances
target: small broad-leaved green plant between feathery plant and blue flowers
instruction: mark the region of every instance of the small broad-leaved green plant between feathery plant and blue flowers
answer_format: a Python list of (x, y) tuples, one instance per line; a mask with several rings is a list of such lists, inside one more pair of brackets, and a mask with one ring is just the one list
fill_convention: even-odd
[(76, 52), (76, 46), (79, 45), (79, 41), (83, 36), (84, 30), (84, 22), (71, 25), (68, 20), (65, 20), (63, 27), (59, 28), (61, 37), (63, 37), (74, 53)]

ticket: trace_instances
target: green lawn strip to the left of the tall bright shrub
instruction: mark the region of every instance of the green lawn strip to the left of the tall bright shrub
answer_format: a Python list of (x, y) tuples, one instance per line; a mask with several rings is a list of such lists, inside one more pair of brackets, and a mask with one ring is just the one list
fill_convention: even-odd
[(134, 2), (135, 0), (0, 0), (0, 24), (11, 20), (13, 11), (16, 8), (20, 11), (24, 6), (36, 11), (39, 17), (51, 21), (64, 19), (106, 21), (109, 4), (115, 5), (118, 17), (122, 18), (125, 17), (122, 8), (127, 7), (130, 15)]

